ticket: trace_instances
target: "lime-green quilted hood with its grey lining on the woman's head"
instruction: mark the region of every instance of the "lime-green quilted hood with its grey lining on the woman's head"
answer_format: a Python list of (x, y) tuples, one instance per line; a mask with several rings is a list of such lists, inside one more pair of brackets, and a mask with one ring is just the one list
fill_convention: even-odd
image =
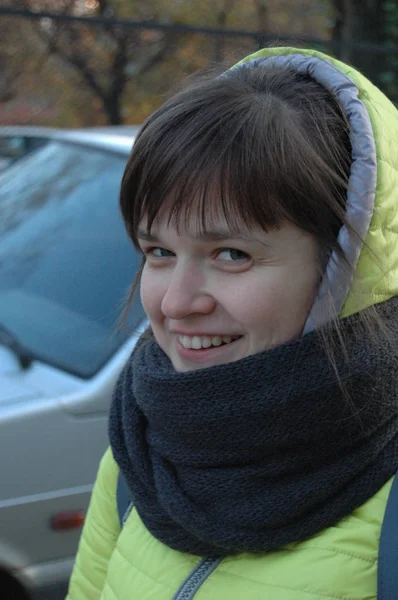
[[(315, 50), (267, 48), (234, 68), (272, 61), (308, 73), (338, 98), (351, 126), (352, 166), (346, 227), (339, 243), (353, 266), (333, 254), (305, 332), (398, 294), (398, 110), (364, 75)], [(362, 242), (365, 240), (365, 244)]]

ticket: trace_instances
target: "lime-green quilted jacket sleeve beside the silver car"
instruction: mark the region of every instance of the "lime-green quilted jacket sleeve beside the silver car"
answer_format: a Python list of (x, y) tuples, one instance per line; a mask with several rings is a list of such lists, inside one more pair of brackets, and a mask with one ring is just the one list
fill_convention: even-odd
[(98, 470), (66, 600), (99, 600), (120, 533), (116, 508), (118, 467), (110, 448)]

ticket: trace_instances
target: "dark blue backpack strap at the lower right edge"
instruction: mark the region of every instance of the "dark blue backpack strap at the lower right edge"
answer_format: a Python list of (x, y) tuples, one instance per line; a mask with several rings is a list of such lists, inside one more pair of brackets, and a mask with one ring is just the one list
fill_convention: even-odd
[(384, 514), (379, 546), (377, 600), (398, 598), (398, 475)]

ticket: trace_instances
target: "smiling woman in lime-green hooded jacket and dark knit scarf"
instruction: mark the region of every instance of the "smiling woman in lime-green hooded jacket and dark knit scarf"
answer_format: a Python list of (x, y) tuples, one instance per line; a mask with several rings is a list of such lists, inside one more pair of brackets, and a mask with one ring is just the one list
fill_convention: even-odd
[(115, 390), (69, 600), (376, 598), (397, 139), (365, 77), (293, 48), (147, 120), (121, 209), (151, 331)]

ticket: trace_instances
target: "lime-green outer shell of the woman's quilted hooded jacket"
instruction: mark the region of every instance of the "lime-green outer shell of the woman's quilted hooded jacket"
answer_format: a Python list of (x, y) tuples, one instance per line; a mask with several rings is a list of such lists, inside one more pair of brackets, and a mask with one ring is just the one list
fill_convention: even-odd
[[(377, 156), (375, 200), (368, 211), (367, 248), (359, 252), (354, 280), (341, 304), (340, 314), (346, 316), (398, 293), (398, 111), (360, 73), (315, 51), (267, 49), (245, 60), (276, 55), (314, 59), (321, 73), (332, 65), (355, 84), (370, 117)], [(384, 261), (379, 269), (373, 252)], [(376, 600), (379, 537), (391, 481), (350, 516), (309, 540), (216, 562), (157, 541), (134, 509), (120, 531), (117, 477), (108, 450), (67, 600)]]

